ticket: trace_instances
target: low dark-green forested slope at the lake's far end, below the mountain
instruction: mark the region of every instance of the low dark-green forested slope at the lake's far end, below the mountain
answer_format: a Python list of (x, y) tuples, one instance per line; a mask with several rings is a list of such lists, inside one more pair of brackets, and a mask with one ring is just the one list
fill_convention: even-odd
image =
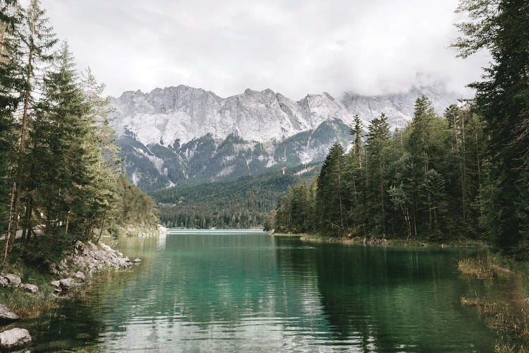
[(263, 227), (274, 209), (277, 195), (303, 180), (312, 179), (320, 164), (274, 168), (259, 176), (198, 186), (174, 187), (154, 192), (162, 224), (186, 228)]

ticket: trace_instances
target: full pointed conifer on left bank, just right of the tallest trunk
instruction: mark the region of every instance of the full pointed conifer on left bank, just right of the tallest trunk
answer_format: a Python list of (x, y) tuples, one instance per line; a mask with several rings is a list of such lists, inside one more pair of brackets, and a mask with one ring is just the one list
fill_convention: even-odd
[[(30, 177), (32, 191), (25, 217), (26, 227), (32, 210), (44, 215), (47, 234), (59, 227), (68, 233), (87, 207), (90, 184), (89, 155), (91, 126), (88, 106), (75, 82), (73, 58), (64, 43), (52, 70), (44, 78), (44, 94), (37, 106), (37, 118), (31, 129)], [(37, 172), (38, 171), (38, 172)]]

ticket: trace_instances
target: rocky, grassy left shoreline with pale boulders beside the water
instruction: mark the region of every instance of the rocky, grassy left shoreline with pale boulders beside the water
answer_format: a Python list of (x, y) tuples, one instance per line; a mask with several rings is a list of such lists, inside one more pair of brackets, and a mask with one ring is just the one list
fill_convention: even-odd
[[(133, 234), (130, 232), (133, 229), (139, 232)], [(126, 230), (127, 232), (122, 232), (118, 237), (159, 237), (166, 234), (166, 228), (161, 225), (128, 225)], [(104, 234), (102, 238), (114, 239), (111, 234)], [(94, 241), (78, 242), (58, 263), (2, 263), (2, 278), (4, 275), (16, 275), (21, 280), (20, 284), (36, 285), (37, 292), (28, 292), (20, 284), (8, 283), (0, 287), (0, 304), (16, 313), (20, 317), (18, 321), (39, 318), (45, 312), (55, 309), (59, 301), (83, 295), (83, 289), (97, 285), (99, 279), (105, 275), (125, 273), (141, 263), (140, 259), (130, 259), (105, 244), (103, 239)]]

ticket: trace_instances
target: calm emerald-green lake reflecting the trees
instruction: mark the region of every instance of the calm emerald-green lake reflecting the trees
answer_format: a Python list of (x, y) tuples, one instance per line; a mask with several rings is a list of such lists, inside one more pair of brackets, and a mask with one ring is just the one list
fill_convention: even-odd
[[(490, 284), (477, 250), (310, 244), (264, 232), (173, 232), (114, 244), (142, 263), (24, 321), (34, 350), (490, 352), (461, 306)], [(20, 326), (20, 325), (19, 325)]]

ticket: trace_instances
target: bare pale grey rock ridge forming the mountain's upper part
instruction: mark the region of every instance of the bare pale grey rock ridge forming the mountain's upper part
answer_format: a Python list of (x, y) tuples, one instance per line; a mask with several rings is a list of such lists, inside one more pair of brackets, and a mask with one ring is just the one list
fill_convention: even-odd
[(346, 92), (337, 100), (328, 92), (294, 100), (270, 88), (247, 88), (240, 95), (221, 98), (214, 92), (186, 85), (155, 88), (150, 93), (128, 91), (112, 100), (118, 134), (128, 131), (145, 145), (174, 140), (186, 143), (207, 133), (224, 139), (234, 133), (244, 140), (269, 143), (308, 131), (324, 121), (339, 119), (351, 124), (359, 114), (366, 126), (384, 112), (391, 128), (404, 126), (413, 116), (417, 97), (427, 95), (442, 114), (455, 95), (439, 87), (411, 88), (408, 92), (366, 97)]

